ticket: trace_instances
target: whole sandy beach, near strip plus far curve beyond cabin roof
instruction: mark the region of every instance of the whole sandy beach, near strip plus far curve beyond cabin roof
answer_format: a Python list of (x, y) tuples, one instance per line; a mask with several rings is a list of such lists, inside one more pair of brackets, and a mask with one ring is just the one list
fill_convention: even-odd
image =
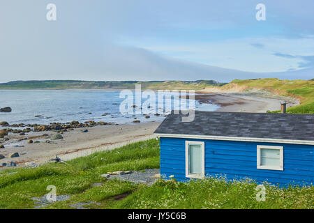
[[(267, 110), (280, 109), (280, 102), (288, 102), (288, 107), (298, 105), (299, 102), (292, 98), (283, 98), (270, 93), (230, 93), (201, 91), (195, 95), (195, 100), (201, 103), (214, 103), (220, 105), (220, 112), (267, 112)], [(89, 155), (96, 151), (124, 146), (131, 142), (154, 138), (154, 130), (160, 122), (103, 125), (91, 128), (77, 128), (62, 134), (63, 139), (51, 140), (57, 133), (55, 131), (29, 132), (24, 136), (9, 134), (8, 141), (0, 139), (0, 144), (5, 148), (0, 149), (0, 154), (5, 158), (3, 162), (15, 162), (23, 167), (26, 162), (45, 163), (55, 155), (63, 160)], [(87, 129), (88, 132), (82, 132)], [(43, 136), (43, 134), (47, 134)], [(28, 140), (33, 139), (33, 144)], [(18, 145), (18, 147), (17, 147)], [(10, 153), (19, 153), (20, 157), (10, 157)], [(5, 168), (5, 167), (2, 167)]]

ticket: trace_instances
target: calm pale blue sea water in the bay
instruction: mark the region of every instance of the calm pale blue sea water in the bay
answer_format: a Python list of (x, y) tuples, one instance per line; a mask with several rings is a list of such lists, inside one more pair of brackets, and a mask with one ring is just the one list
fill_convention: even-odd
[[(1, 90), (0, 107), (11, 107), (12, 112), (0, 112), (0, 121), (7, 121), (10, 124), (49, 124), (52, 122), (94, 120), (121, 124), (132, 123), (136, 117), (141, 123), (145, 123), (162, 121), (165, 118), (164, 115), (170, 112), (160, 112), (158, 105), (155, 105), (147, 114), (151, 118), (145, 118), (143, 114), (136, 114), (135, 116), (121, 114), (119, 106), (124, 98), (119, 98), (119, 95), (120, 91)], [(173, 108), (177, 108), (177, 105), (172, 105)], [(161, 108), (159, 107), (159, 109)], [(218, 106), (200, 105), (200, 103), (195, 102), (195, 109), (215, 111)], [(163, 115), (154, 116), (156, 111)], [(102, 116), (104, 113), (107, 113), (107, 116)]]

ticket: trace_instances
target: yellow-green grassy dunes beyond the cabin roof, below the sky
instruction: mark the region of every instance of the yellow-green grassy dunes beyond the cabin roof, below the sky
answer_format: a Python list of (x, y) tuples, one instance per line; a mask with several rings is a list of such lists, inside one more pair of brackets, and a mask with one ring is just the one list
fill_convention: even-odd
[[(249, 91), (260, 89), (277, 95), (288, 96), (300, 100), (300, 105), (287, 109), (287, 113), (314, 113), (314, 81), (312, 80), (281, 80), (276, 78), (265, 79), (236, 79), (220, 89)], [(279, 111), (276, 111), (279, 112)]]

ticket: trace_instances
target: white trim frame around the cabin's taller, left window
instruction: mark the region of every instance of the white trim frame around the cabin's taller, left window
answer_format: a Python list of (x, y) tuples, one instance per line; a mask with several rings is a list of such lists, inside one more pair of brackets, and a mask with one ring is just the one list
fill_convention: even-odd
[[(202, 149), (202, 174), (190, 174), (188, 162), (188, 145), (200, 145)], [(205, 177), (205, 144), (204, 141), (186, 141), (186, 178), (203, 179)]]

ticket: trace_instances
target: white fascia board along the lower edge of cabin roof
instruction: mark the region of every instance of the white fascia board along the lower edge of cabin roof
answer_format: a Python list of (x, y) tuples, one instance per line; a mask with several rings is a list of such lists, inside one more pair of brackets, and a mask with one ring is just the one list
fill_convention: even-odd
[(165, 134), (154, 133), (158, 137), (167, 138), (188, 138), (188, 139), (211, 139), (211, 140), (223, 140), (223, 141), (258, 141), (258, 142), (271, 142), (271, 143), (284, 143), (284, 144), (302, 144), (313, 145), (314, 141), (309, 140), (297, 140), (297, 139), (268, 139), (268, 138), (250, 138), (250, 137), (219, 137), (211, 135), (199, 135), (199, 134)]

